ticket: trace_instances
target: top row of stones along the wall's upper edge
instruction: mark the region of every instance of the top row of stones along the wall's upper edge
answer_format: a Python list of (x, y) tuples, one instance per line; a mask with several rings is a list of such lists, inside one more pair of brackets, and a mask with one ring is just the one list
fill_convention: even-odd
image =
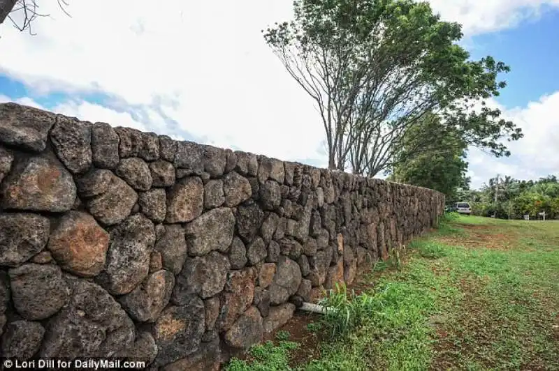
[[(166, 160), (185, 174), (188, 172), (202, 178), (217, 178), (235, 169), (239, 174), (256, 176), (260, 182), (274, 179), (279, 183), (290, 183), (293, 176), (302, 176), (293, 174), (293, 169), (296, 165), (303, 165), (304, 173), (329, 172), (333, 179), (339, 179), (347, 189), (357, 189), (364, 183), (368, 186), (392, 185), (389, 188), (428, 189), (319, 169), (249, 152), (176, 141), (167, 135), (115, 127), (103, 122), (80, 121), (17, 103), (0, 104), (0, 144), (27, 153), (40, 153), (52, 145), (58, 158), (73, 175), (84, 174), (92, 166), (114, 170), (119, 159), (138, 157), (147, 162)], [(259, 163), (265, 165), (259, 167)], [(444, 196), (435, 190), (431, 191), (434, 195)]]

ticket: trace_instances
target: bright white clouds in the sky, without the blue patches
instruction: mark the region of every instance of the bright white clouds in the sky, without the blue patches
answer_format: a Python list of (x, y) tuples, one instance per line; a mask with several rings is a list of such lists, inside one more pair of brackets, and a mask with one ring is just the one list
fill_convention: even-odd
[[(177, 132), (154, 110), (157, 107), (179, 129), (203, 142), (324, 164), (324, 129), (312, 100), (289, 77), (260, 32), (273, 22), (291, 19), (291, 0), (168, 0), (165, 6), (145, 0), (69, 3), (71, 17), (57, 8), (57, 1), (41, 0), (41, 13), (52, 17), (36, 20), (37, 36), (5, 22), (0, 27), (0, 71), (34, 93), (96, 91), (116, 96), (142, 107), (149, 122), (81, 100), (59, 103), (58, 112), (160, 134)], [(546, 6), (558, 6), (559, 0), (431, 3), (445, 20), (464, 24), (471, 36), (514, 27)], [(552, 106), (542, 101), (511, 114), (539, 130), (542, 112)], [(524, 153), (537, 158), (538, 166), (547, 166), (542, 159), (552, 152), (544, 146), (549, 138), (527, 135), (524, 146), (512, 148), (518, 156)], [(476, 176), (493, 161), (475, 167)]]

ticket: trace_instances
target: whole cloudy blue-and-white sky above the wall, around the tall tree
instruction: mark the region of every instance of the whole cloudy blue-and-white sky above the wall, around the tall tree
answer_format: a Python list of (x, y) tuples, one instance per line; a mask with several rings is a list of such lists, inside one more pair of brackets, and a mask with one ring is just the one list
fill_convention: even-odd
[[(33, 35), (0, 25), (0, 102), (326, 167), (324, 128), (263, 40), (292, 0), (37, 0)], [(472, 188), (559, 175), (559, 0), (432, 0), (473, 59), (511, 66), (490, 104), (522, 128), (509, 158), (470, 149)], [(17, 20), (20, 14), (15, 14)]]

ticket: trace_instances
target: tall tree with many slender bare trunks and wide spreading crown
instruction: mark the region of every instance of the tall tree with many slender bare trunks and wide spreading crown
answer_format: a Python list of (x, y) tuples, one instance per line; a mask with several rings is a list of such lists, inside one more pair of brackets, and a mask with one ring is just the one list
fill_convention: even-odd
[(296, 0), (293, 6), (294, 20), (268, 28), (264, 38), (316, 103), (329, 168), (351, 165), (356, 174), (374, 176), (395, 165), (402, 138), (428, 112), (495, 156), (509, 155), (499, 139), (522, 136), (483, 104), (504, 88), (496, 77), (509, 67), (490, 56), (470, 61), (456, 45), (460, 25), (440, 21), (428, 3)]

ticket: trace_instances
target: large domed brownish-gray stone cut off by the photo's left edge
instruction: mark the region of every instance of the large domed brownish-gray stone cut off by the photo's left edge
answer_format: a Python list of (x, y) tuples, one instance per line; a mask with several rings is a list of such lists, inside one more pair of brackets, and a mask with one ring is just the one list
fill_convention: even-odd
[(72, 209), (75, 202), (72, 176), (50, 156), (15, 161), (2, 185), (4, 209), (61, 213)]

